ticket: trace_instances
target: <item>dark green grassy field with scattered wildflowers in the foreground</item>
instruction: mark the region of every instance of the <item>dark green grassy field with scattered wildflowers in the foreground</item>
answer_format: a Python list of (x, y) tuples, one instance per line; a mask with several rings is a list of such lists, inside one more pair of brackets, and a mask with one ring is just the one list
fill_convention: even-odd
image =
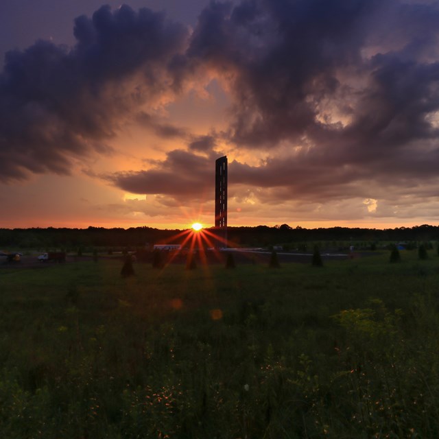
[(0, 270), (2, 438), (437, 438), (439, 257)]

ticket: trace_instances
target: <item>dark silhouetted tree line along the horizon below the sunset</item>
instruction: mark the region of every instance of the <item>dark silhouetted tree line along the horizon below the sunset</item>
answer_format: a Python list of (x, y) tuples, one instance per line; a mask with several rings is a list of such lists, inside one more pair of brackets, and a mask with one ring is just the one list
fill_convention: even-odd
[[(215, 232), (214, 228), (208, 229)], [(145, 247), (154, 244), (182, 244), (182, 230), (152, 227), (132, 228), (0, 228), (0, 248)], [(438, 241), (439, 226), (423, 224), (398, 228), (302, 228), (280, 226), (229, 227), (230, 246), (296, 246), (309, 241)]]

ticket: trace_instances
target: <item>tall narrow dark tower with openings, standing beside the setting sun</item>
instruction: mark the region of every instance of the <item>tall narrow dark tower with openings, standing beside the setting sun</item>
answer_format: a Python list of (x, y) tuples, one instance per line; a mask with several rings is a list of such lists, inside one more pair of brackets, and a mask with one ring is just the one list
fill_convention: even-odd
[[(215, 161), (215, 228), (219, 246), (227, 246), (227, 156)], [(224, 242), (223, 242), (224, 241)]]

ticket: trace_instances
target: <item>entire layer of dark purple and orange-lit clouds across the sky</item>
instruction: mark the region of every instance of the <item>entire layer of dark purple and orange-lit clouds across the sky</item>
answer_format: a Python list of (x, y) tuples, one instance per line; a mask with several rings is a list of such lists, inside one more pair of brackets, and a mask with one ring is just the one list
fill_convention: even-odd
[[(226, 153), (237, 200), (249, 188), (264, 203), (355, 198), (378, 214), (373, 200), (413, 202), (423, 187), (425, 202), (438, 183), (437, 23), (429, 1), (211, 1), (193, 29), (102, 7), (75, 20), (71, 49), (38, 41), (8, 53), (0, 180), (67, 174), (108, 154), (106, 140), (132, 120), (186, 144), (104, 176), (132, 193), (200, 198)], [(200, 78), (229, 95), (226, 131), (195, 135), (154, 113)], [(246, 160), (253, 153), (263, 159)]]

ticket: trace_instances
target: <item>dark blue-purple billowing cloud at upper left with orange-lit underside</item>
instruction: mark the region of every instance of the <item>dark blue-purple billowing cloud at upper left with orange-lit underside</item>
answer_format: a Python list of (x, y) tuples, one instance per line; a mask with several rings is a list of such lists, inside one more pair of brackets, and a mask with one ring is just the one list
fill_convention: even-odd
[[(103, 6), (75, 20), (69, 49), (38, 41), (10, 51), (0, 75), (0, 180), (68, 174), (71, 161), (114, 136), (119, 121), (169, 93), (188, 31), (146, 8)], [(163, 135), (177, 134), (157, 126)]]

